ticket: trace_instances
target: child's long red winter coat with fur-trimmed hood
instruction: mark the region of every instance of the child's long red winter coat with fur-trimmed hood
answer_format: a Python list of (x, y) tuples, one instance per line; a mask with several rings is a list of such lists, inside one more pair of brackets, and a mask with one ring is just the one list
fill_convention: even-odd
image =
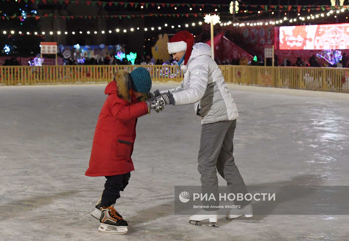
[(98, 117), (87, 176), (112, 176), (134, 170), (131, 155), (137, 118), (148, 114), (148, 107), (132, 96), (129, 81), (129, 73), (120, 70), (105, 88), (108, 97)]

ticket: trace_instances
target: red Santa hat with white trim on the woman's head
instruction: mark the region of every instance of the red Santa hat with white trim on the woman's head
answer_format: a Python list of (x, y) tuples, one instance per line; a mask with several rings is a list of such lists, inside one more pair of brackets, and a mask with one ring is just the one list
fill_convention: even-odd
[(184, 63), (180, 67), (183, 70), (187, 70), (187, 62), (190, 55), (192, 54), (194, 45), (194, 37), (187, 30), (179, 31), (170, 39), (170, 42), (167, 43), (167, 48), (169, 54), (178, 53), (185, 51)]

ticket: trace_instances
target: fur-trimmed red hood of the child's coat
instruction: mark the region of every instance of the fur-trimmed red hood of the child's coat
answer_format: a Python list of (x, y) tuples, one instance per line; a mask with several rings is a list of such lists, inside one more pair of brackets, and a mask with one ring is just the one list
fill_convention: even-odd
[(106, 95), (117, 93), (118, 97), (131, 103), (132, 98), (130, 94), (131, 90), (131, 77), (128, 71), (118, 70), (114, 73), (114, 80), (107, 84), (104, 93)]

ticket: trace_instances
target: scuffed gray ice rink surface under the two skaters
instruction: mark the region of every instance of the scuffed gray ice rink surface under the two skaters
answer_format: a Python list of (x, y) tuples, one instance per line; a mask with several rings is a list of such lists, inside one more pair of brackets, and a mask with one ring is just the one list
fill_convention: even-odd
[[(235, 162), (246, 185), (349, 185), (349, 94), (228, 86), (239, 111)], [(174, 185), (200, 185), (193, 105), (139, 118), (135, 172), (116, 204), (129, 231), (99, 233), (90, 212), (105, 178), (84, 173), (104, 88), (0, 86), (1, 241), (349, 240), (346, 215), (222, 217), (219, 229), (174, 215)]]

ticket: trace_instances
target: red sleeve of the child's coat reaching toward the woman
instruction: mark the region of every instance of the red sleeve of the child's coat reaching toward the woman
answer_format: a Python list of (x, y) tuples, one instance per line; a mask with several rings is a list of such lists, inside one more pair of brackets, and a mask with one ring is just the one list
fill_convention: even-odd
[(148, 106), (144, 101), (132, 105), (117, 102), (111, 107), (111, 111), (118, 120), (126, 122), (148, 114)]

